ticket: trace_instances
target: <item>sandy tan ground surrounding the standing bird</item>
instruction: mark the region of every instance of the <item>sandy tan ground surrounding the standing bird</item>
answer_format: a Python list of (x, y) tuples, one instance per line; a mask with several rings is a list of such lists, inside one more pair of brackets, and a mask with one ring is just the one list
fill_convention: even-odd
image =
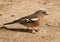
[(0, 29), (0, 42), (60, 42), (60, 0), (0, 0), (0, 27), (40, 8), (46, 9), (48, 16), (38, 27), (36, 34), (27, 31), (25, 26), (6, 26), (13, 30)]

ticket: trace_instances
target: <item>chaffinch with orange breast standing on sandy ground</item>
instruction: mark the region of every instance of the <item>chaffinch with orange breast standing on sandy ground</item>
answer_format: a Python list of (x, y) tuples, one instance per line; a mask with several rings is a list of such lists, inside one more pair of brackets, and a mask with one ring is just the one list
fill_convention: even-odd
[(34, 31), (37, 32), (38, 30), (34, 29), (33, 27), (40, 25), (42, 23), (42, 21), (44, 20), (45, 15), (48, 15), (46, 13), (46, 10), (41, 9), (31, 15), (22, 17), (18, 20), (14, 20), (13, 22), (10, 22), (10, 23), (5, 23), (4, 25), (20, 23), (20, 24), (26, 26), (27, 28), (31, 27)]

